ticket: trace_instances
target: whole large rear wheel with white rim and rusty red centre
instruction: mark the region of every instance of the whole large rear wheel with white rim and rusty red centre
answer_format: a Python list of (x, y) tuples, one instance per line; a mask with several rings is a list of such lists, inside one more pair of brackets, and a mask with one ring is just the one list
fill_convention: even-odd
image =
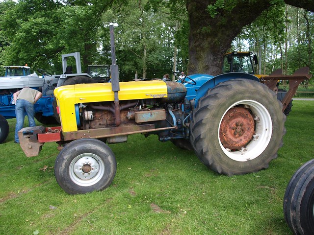
[(199, 99), (193, 112), (193, 149), (202, 163), (220, 174), (267, 168), (286, 133), (281, 110), (276, 94), (260, 82), (222, 82)]

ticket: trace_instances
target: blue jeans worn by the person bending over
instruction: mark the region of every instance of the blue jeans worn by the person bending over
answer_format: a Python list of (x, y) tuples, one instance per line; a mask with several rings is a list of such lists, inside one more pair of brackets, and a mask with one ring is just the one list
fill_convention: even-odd
[(35, 109), (34, 104), (29, 103), (25, 99), (18, 99), (15, 104), (15, 115), (16, 115), (16, 125), (15, 125), (15, 135), (14, 140), (19, 141), (18, 132), (23, 128), (25, 115), (28, 117), (28, 125), (36, 126), (34, 115)]

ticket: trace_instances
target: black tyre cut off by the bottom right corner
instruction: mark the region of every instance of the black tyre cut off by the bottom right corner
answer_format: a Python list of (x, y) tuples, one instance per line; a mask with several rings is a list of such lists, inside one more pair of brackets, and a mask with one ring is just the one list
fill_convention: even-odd
[(314, 234), (314, 159), (290, 179), (284, 196), (284, 216), (295, 235)]

